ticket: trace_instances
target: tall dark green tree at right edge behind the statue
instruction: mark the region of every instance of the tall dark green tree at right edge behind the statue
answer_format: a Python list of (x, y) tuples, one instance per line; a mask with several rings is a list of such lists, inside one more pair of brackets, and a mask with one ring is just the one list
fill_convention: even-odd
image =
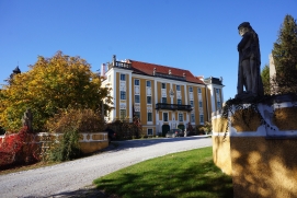
[(292, 15), (286, 15), (278, 38), (272, 50), (276, 77), (273, 78), (276, 94), (297, 94), (297, 24)]

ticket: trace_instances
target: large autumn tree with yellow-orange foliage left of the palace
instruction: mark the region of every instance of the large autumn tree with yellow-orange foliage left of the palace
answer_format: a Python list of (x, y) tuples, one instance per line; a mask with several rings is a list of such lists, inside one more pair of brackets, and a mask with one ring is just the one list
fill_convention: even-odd
[(7, 130), (20, 129), (27, 108), (33, 113), (35, 131), (44, 130), (50, 117), (69, 106), (100, 112), (105, 98), (104, 109), (110, 109), (110, 90), (101, 88), (101, 77), (84, 59), (57, 51), (52, 58), (38, 56), (28, 67), (0, 90), (0, 126)]

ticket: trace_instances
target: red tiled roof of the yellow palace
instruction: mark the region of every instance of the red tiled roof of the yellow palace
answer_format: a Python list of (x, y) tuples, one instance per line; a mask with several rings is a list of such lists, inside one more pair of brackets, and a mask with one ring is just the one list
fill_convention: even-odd
[(185, 79), (187, 82), (204, 84), (202, 80), (199, 80), (197, 77), (194, 77), (189, 70), (171, 68), (171, 67), (160, 66), (160, 65), (155, 65), (155, 63), (140, 62), (136, 60), (129, 60), (129, 61), (132, 63), (132, 68), (135, 73), (152, 75), (153, 69), (156, 68), (157, 73), (169, 74), (169, 70), (171, 70), (172, 75), (183, 77), (183, 73), (185, 73)]

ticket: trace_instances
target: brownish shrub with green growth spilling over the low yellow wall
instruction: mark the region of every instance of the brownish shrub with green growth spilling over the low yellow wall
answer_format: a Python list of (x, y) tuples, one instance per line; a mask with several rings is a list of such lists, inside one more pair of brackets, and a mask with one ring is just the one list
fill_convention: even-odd
[(60, 109), (50, 118), (46, 128), (49, 132), (62, 133), (49, 149), (49, 160), (68, 161), (81, 155), (79, 148), (79, 132), (98, 132), (104, 130), (104, 120), (98, 112), (92, 109)]

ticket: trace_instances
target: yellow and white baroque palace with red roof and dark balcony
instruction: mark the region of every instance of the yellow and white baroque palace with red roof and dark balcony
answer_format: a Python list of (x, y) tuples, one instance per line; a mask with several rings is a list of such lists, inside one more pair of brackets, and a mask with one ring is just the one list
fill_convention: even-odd
[(203, 79), (184, 69), (117, 61), (114, 55), (106, 68), (103, 65), (101, 74), (102, 86), (112, 89), (114, 100), (105, 120), (133, 121), (133, 117), (138, 117), (146, 136), (164, 136), (170, 129), (204, 125), (224, 101), (221, 78)]

